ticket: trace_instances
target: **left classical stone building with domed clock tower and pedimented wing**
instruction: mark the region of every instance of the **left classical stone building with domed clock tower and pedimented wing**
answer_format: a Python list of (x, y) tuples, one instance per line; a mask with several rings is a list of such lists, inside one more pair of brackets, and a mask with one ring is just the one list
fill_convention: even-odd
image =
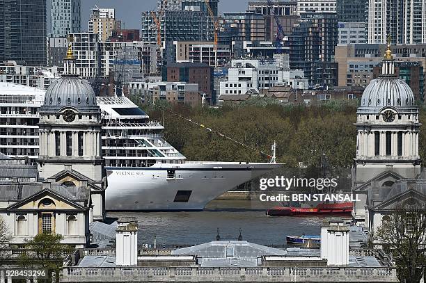
[(64, 67), (40, 107), (38, 164), (0, 156), (0, 217), (12, 244), (44, 233), (82, 248), (90, 241), (89, 224), (105, 218), (100, 108), (76, 74), (71, 49)]

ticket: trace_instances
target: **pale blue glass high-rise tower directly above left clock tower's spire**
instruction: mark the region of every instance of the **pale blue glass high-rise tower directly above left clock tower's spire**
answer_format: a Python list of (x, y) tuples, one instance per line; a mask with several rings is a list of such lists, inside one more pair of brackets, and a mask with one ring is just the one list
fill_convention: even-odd
[(66, 37), (68, 33), (81, 32), (81, 0), (52, 0), (51, 36)]

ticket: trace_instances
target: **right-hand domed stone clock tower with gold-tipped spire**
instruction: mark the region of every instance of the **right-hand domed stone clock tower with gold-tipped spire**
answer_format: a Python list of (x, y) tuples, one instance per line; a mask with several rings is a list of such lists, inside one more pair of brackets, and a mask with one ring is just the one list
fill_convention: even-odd
[[(381, 75), (365, 88), (356, 119), (356, 175), (354, 191), (367, 187), (393, 186), (395, 179), (413, 179), (420, 174), (418, 107), (411, 88), (395, 75), (395, 62), (386, 49)], [(356, 213), (364, 214), (364, 204)]]

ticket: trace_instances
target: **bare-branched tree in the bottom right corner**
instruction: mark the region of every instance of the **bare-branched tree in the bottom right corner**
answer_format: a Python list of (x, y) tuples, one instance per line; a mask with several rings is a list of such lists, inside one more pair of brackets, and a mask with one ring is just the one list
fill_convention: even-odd
[(393, 255), (401, 282), (420, 282), (426, 266), (425, 207), (398, 207), (383, 220), (376, 239)]

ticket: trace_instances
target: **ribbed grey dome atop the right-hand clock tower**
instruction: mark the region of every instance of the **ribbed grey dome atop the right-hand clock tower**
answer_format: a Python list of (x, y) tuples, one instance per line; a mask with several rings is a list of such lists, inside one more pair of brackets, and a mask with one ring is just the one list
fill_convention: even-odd
[(381, 76), (365, 88), (361, 106), (383, 108), (414, 106), (413, 90), (402, 79), (394, 76)]

